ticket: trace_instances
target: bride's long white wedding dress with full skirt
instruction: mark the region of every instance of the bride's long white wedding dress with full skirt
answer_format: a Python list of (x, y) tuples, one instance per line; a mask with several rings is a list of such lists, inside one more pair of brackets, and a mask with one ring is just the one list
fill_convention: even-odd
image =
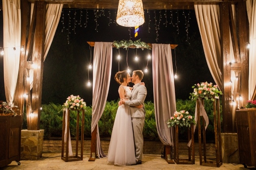
[[(130, 99), (132, 96), (130, 88), (122, 85), (119, 88), (122, 87), (126, 90), (125, 97)], [(130, 106), (124, 104), (118, 107), (115, 116), (108, 149), (108, 163), (119, 166), (136, 163)]]

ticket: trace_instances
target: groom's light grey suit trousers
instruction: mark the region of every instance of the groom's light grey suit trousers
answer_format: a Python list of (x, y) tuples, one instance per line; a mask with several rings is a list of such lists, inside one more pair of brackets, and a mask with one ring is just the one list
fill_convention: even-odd
[(145, 118), (132, 117), (132, 129), (135, 141), (135, 158), (141, 161), (143, 158), (143, 127)]

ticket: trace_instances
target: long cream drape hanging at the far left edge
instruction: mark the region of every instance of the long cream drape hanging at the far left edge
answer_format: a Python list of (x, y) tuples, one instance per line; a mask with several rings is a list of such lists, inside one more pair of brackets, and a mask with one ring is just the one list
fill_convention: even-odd
[[(2, 0), (4, 33), (4, 89), (8, 103), (13, 104), (20, 64), (20, 0)], [(13, 48), (16, 48), (16, 51)]]

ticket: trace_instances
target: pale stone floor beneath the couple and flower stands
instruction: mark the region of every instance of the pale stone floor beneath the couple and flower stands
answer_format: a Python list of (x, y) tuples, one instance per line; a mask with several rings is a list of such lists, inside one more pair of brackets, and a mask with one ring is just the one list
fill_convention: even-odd
[(136, 169), (136, 170), (246, 170), (255, 168), (244, 168), (243, 165), (223, 164), (221, 167), (200, 166), (199, 158), (195, 157), (194, 165), (167, 164), (161, 155), (144, 155), (142, 164), (136, 166), (114, 166), (108, 165), (106, 158), (88, 161), (89, 153), (84, 154), (82, 161), (65, 162), (61, 159), (61, 153), (43, 153), (42, 157), (36, 161), (21, 160), (20, 166), (13, 161), (8, 166), (0, 168), (3, 170), (112, 170), (112, 169)]

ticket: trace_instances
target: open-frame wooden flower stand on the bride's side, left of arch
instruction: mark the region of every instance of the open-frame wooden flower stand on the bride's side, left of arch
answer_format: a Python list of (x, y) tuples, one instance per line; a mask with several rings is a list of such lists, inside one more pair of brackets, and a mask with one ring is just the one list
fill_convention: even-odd
[[(81, 127), (81, 151), (80, 156), (78, 155), (78, 141), (79, 141), (79, 113), (82, 111), (82, 127)], [(69, 156), (68, 155), (68, 148), (69, 148), (69, 119), (70, 119), (70, 110), (67, 109), (67, 138), (66, 138), (66, 148), (64, 144), (64, 134), (65, 134), (65, 122), (66, 122), (66, 111), (63, 110), (63, 126), (62, 126), (62, 147), (61, 147), (61, 159), (65, 162), (68, 161), (79, 161), (83, 159), (83, 143), (84, 143), (84, 123), (85, 123), (85, 110), (77, 110), (77, 117), (76, 117), (76, 155)], [(64, 149), (65, 156), (64, 156)]]

